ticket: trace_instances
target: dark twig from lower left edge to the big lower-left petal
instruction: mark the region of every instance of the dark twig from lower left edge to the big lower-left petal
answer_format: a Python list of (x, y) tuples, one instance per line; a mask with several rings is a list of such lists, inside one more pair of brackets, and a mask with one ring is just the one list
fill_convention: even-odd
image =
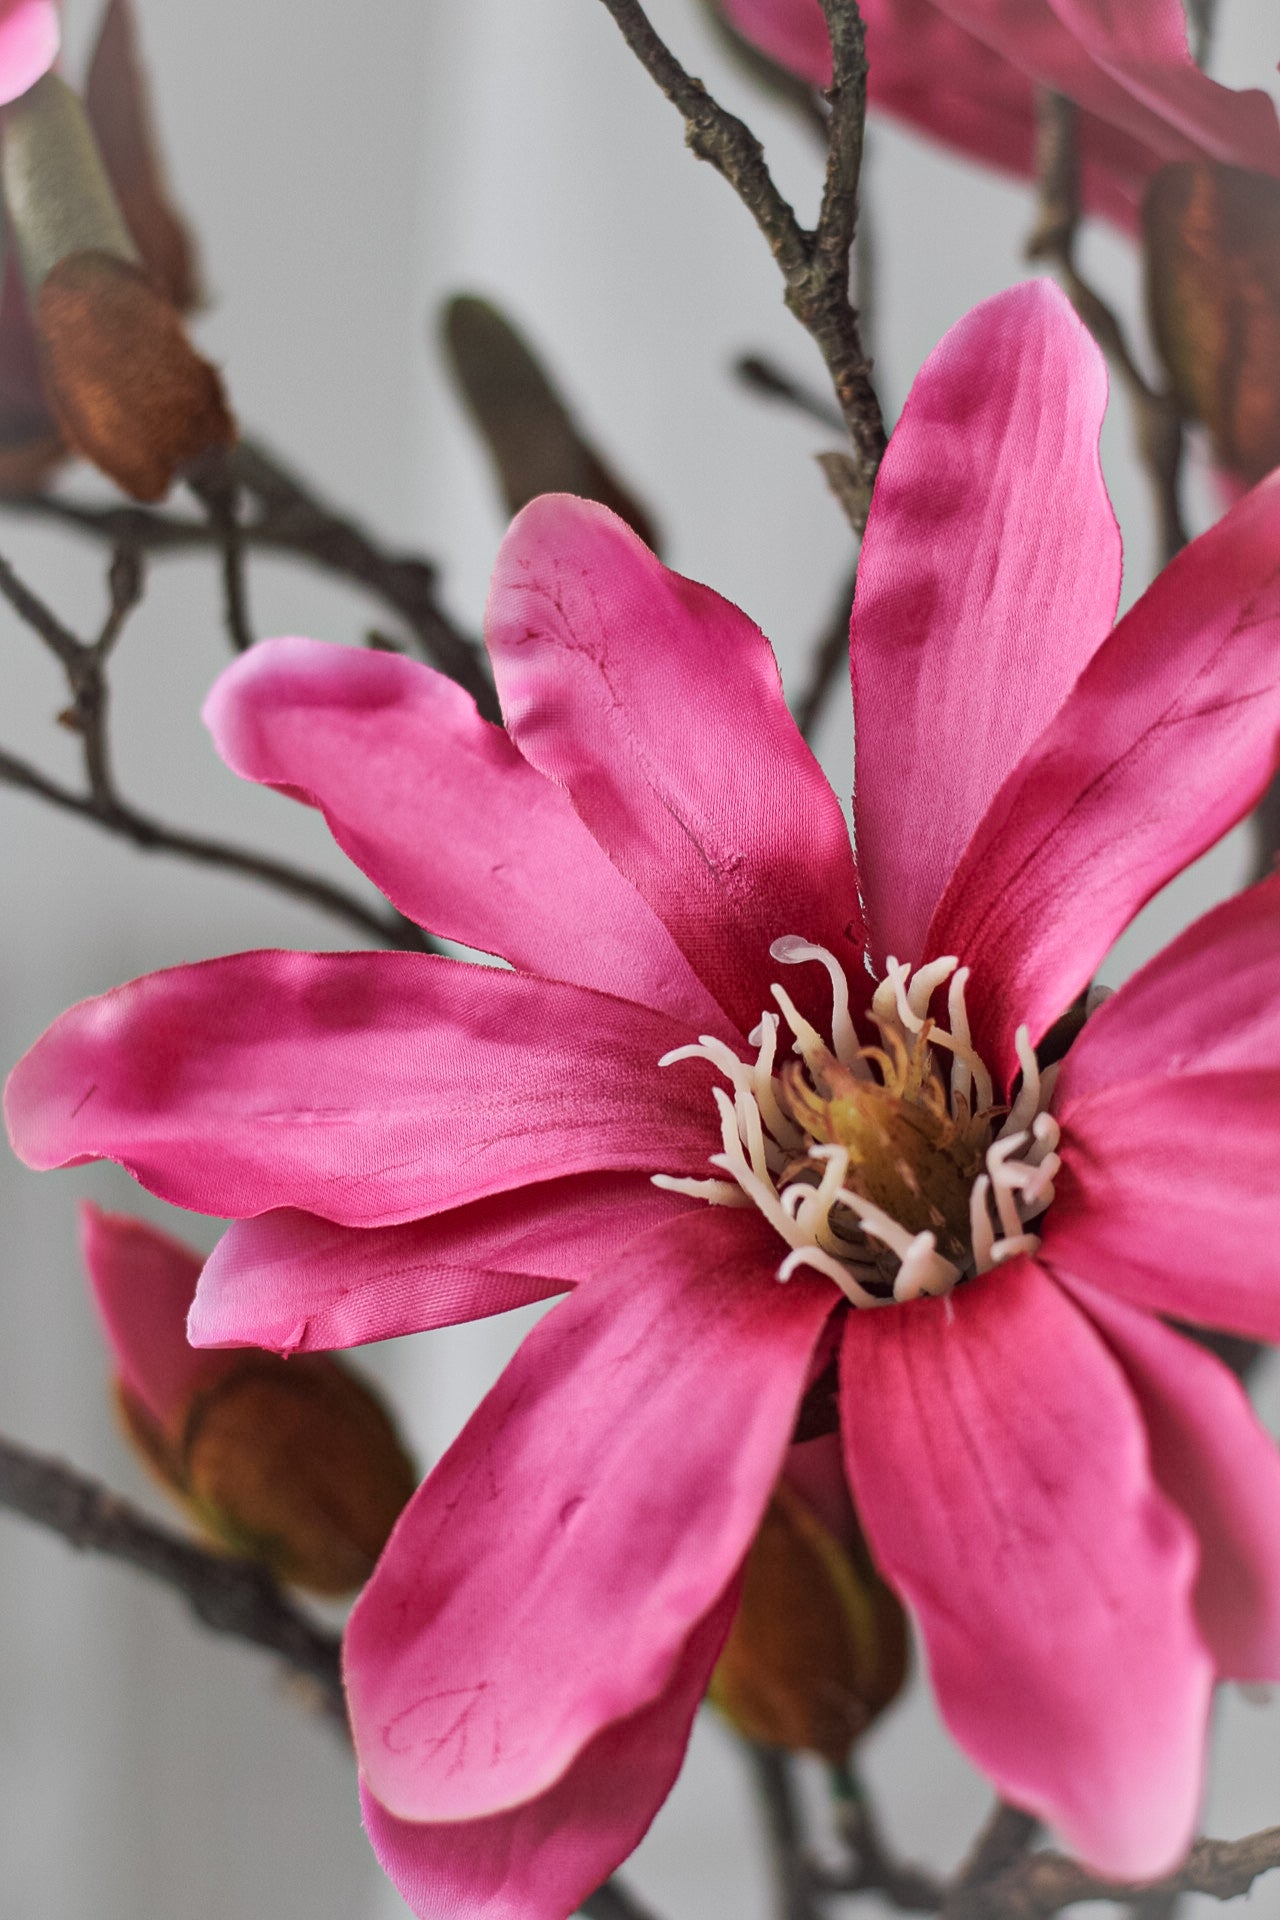
[(13, 1440), (0, 1440), (0, 1507), (159, 1580), (213, 1632), (276, 1653), (315, 1682), (345, 1726), (338, 1636), (299, 1613), (263, 1567), (194, 1546), (98, 1480)]

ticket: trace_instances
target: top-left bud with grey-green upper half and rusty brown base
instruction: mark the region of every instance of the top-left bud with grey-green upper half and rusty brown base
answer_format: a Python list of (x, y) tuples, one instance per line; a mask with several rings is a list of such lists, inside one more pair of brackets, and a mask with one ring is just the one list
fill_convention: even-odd
[(125, 492), (159, 499), (236, 428), (219, 374), (140, 263), (84, 108), (56, 75), (4, 109), (0, 175), (50, 411)]

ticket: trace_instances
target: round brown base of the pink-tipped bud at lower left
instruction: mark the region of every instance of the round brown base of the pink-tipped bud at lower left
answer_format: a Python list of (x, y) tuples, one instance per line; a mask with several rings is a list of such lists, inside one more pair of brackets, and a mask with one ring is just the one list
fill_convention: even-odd
[(326, 1354), (246, 1354), (192, 1405), (180, 1478), (221, 1546), (317, 1594), (363, 1586), (416, 1486), (378, 1396)]

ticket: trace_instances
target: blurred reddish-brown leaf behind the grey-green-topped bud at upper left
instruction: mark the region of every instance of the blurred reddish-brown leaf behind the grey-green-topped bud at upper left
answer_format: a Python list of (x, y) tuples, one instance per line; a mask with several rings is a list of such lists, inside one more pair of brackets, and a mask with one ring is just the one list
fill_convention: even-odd
[(109, 0), (104, 13), (84, 111), (152, 280), (178, 313), (190, 313), (200, 305), (196, 244), (165, 180), (130, 0)]

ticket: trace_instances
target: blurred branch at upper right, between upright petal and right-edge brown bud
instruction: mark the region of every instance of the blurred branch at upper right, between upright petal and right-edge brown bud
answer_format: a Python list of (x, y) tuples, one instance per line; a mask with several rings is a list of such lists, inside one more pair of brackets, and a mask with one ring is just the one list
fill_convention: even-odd
[(1029, 259), (1048, 259), (1057, 269), (1071, 305), (1111, 361), (1134, 409), (1138, 453), (1148, 470), (1159, 528), (1161, 566), (1186, 545), (1178, 501), (1182, 470), (1182, 419), (1173, 396), (1159, 394), (1142, 376), (1125, 328), (1102, 296), (1084, 280), (1075, 257), (1080, 227), (1080, 179), (1077, 156), (1077, 108), (1061, 94), (1040, 94), (1038, 129), (1040, 205), (1027, 242)]

